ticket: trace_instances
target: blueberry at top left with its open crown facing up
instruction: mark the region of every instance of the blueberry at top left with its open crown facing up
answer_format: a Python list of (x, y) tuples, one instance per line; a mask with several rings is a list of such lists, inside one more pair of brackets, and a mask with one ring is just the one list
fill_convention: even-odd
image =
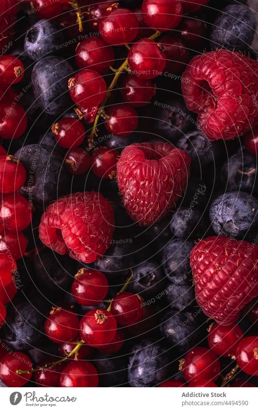
[(54, 20), (39, 20), (27, 31), (24, 51), (33, 61), (49, 54), (58, 54), (58, 46), (64, 41), (62, 28)]

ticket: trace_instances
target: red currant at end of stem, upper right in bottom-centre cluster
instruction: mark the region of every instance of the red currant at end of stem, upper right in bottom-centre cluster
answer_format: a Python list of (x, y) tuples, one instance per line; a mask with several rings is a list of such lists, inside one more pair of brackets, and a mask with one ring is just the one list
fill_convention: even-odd
[(143, 299), (131, 292), (118, 294), (111, 304), (111, 312), (118, 324), (132, 325), (143, 318)]

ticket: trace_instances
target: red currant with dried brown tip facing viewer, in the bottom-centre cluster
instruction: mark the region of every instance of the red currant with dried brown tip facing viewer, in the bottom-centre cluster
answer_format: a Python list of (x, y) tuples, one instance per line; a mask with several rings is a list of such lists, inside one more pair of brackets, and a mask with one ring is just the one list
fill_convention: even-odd
[(107, 310), (94, 309), (88, 311), (80, 321), (80, 335), (90, 347), (109, 344), (116, 333), (116, 321)]

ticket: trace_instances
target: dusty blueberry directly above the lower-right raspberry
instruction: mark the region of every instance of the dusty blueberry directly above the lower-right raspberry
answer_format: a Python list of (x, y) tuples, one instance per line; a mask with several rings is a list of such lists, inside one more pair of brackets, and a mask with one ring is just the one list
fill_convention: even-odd
[(217, 235), (243, 239), (258, 224), (258, 200), (243, 191), (222, 194), (210, 207), (210, 220)]

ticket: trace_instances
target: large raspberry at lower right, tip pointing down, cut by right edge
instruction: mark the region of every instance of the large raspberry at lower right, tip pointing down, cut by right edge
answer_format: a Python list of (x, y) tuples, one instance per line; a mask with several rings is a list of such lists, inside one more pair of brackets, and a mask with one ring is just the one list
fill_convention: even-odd
[(237, 320), (258, 296), (258, 246), (224, 236), (201, 240), (191, 251), (196, 300), (218, 324)]

